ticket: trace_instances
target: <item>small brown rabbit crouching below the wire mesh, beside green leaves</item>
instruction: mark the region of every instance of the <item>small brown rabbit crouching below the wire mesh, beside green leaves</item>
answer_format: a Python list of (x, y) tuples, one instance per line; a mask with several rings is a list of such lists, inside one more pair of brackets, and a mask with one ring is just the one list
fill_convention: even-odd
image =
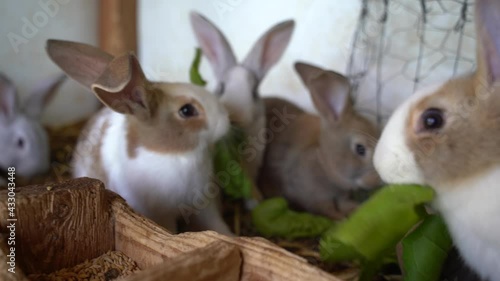
[(295, 69), (319, 116), (264, 99), (269, 140), (259, 187), (266, 197), (340, 219), (358, 205), (351, 191), (381, 185), (372, 164), (379, 130), (354, 110), (346, 77), (305, 63)]

